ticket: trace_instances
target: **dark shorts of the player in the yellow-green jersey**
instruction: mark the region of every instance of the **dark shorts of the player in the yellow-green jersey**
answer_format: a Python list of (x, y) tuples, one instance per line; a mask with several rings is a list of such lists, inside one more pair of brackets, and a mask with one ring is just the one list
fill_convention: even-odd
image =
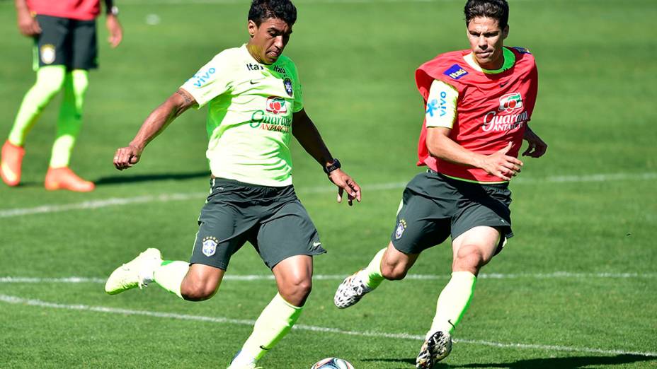
[(270, 269), (288, 257), (326, 252), (291, 185), (266, 187), (214, 178), (198, 225), (190, 264), (227, 270), (246, 241)]

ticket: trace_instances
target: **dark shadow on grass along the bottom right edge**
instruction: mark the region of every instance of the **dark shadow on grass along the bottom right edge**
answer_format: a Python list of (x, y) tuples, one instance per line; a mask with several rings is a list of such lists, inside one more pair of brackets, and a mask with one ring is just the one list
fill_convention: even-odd
[[(415, 358), (380, 358), (380, 359), (363, 359), (362, 361), (383, 361), (389, 363), (407, 363), (415, 366)], [(473, 363), (463, 365), (450, 365), (447, 363), (438, 363), (433, 369), (447, 368), (508, 368), (508, 369), (579, 369), (591, 365), (596, 367), (604, 365), (618, 365), (638, 363), (641, 361), (657, 361), (657, 357), (643, 355), (616, 355), (616, 356), (572, 356), (569, 358), (535, 358), (513, 361), (509, 363)], [(404, 365), (402, 368), (409, 368)]]

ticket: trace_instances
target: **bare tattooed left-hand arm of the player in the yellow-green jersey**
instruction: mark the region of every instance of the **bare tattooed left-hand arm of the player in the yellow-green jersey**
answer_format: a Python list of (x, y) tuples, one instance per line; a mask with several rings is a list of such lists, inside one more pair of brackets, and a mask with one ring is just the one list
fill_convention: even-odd
[(182, 88), (173, 93), (146, 118), (130, 144), (119, 148), (114, 154), (114, 166), (118, 170), (132, 167), (139, 162), (142, 151), (150, 141), (160, 134), (173, 119), (179, 117), (185, 110), (196, 104), (196, 100)]

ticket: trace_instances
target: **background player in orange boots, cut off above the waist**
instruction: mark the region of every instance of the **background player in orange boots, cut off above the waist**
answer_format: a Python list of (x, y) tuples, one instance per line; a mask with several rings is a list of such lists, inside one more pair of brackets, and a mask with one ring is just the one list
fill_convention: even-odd
[[(123, 31), (118, 8), (104, 0), (109, 42), (117, 47)], [(0, 177), (14, 187), (21, 182), (25, 136), (59, 91), (64, 91), (57, 118), (57, 137), (52, 145), (45, 188), (89, 192), (93, 182), (83, 180), (69, 169), (71, 151), (82, 124), (82, 106), (88, 86), (88, 70), (98, 65), (96, 18), (100, 0), (16, 0), (18, 29), (34, 38), (37, 80), (25, 94), (16, 120), (2, 146)]]

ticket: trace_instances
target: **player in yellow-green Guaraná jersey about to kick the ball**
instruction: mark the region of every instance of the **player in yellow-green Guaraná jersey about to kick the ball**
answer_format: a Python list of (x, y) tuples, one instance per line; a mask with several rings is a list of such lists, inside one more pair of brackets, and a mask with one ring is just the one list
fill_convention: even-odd
[(290, 331), (311, 290), (312, 256), (322, 254), (317, 230), (292, 187), (292, 135), (338, 187), (338, 201), (360, 201), (360, 187), (341, 170), (304, 111), (297, 68), (282, 54), (297, 18), (289, 0), (253, 0), (251, 39), (203, 66), (146, 119), (114, 165), (135, 165), (144, 147), (189, 107), (208, 105), (207, 158), (212, 192), (200, 213), (190, 262), (163, 261), (148, 249), (120, 266), (105, 291), (120, 293), (155, 281), (190, 301), (217, 293), (230, 257), (246, 241), (272, 270), (278, 293), (261, 313), (229, 368), (256, 362)]

